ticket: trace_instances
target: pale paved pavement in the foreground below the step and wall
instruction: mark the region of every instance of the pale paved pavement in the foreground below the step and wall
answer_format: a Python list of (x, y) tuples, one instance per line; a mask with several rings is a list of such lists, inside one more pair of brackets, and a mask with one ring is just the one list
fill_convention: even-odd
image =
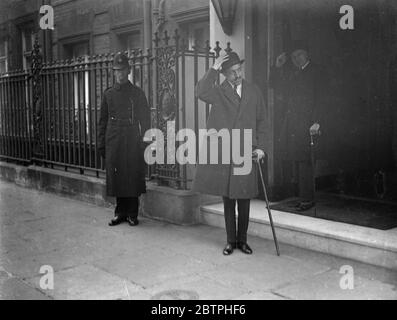
[(397, 299), (395, 270), (257, 237), (223, 256), (224, 229), (112, 216), (0, 181), (0, 299)]

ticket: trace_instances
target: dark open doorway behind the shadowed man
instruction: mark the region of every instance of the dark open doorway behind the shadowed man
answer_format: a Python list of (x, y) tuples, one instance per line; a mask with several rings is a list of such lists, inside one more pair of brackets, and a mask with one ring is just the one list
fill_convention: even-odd
[(317, 199), (336, 196), (397, 204), (397, 6), (390, 1), (351, 1), (354, 30), (342, 30), (339, 10), (344, 4), (339, 0), (255, 4), (254, 65), (266, 73), (254, 71), (254, 81), (270, 109), (274, 201), (290, 199), (296, 191), (287, 185), (282, 165), (280, 137), (289, 97), (282, 88), (272, 88), (269, 74), (276, 57), (283, 52), (290, 56), (300, 42), (326, 79), (323, 132), (314, 149)]

